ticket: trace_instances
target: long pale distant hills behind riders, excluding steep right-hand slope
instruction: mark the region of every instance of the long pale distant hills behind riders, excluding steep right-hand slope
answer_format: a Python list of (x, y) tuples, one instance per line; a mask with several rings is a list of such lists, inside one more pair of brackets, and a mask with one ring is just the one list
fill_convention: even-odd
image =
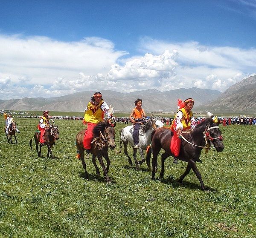
[[(134, 101), (137, 98), (143, 100), (145, 112), (175, 112), (177, 110), (177, 98), (185, 100), (192, 97), (195, 105), (204, 105), (214, 100), (221, 92), (210, 89), (176, 89), (166, 92), (160, 92), (156, 89), (148, 89), (130, 93), (120, 93), (111, 90), (102, 90), (103, 99), (114, 107), (115, 112), (131, 112)], [(72, 111), (83, 112), (87, 103), (90, 101), (94, 91), (77, 92), (61, 97), (36, 97), (11, 100), (0, 100), (0, 109), (2, 110), (49, 110), (49, 111)]]

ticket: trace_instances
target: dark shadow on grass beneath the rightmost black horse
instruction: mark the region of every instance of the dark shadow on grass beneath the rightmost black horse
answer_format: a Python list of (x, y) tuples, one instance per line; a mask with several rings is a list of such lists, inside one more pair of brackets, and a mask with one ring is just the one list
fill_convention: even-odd
[[(191, 183), (189, 181), (182, 181), (182, 184), (178, 182), (177, 179), (174, 178), (173, 175), (171, 175), (169, 178), (162, 178), (160, 179), (160, 181), (162, 181), (163, 184), (169, 184), (171, 185), (173, 188), (177, 188), (179, 186), (182, 187), (186, 187), (188, 189), (192, 189), (192, 190), (201, 190), (201, 186), (195, 183)], [(218, 189), (209, 187), (209, 186), (205, 186), (206, 190), (210, 190), (211, 192), (218, 192)]]

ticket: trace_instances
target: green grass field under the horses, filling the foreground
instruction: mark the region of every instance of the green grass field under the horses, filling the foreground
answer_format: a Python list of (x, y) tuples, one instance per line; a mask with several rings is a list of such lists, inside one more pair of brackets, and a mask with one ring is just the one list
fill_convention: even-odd
[[(167, 158), (165, 177), (152, 181), (145, 163), (136, 171), (115, 151), (109, 151), (111, 185), (90, 160), (84, 179), (75, 158), (80, 120), (55, 120), (60, 139), (52, 159), (45, 147), (38, 158), (34, 141), (30, 151), (38, 119), (16, 119), (18, 144), (7, 143), (1, 122), (1, 238), (256, 237), (256, 126), (220, 126), (224, 152), (203, 151), (198, 164), (207, 193), (192, 171), (183, 185), (176, 182), (186, 168), (182, 161)], [(117, 149), (124, 126), (116, 126)]]

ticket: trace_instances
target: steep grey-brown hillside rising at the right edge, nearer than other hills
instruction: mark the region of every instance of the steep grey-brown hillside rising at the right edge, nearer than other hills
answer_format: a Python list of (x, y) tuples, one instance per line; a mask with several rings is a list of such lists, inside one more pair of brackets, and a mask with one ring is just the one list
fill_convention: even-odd
[[(195, 107), (195, 109), (199, 109)], [(230, 86), (215, 100), (200, 107), (211, 111), (253, 111), (256, 110), (256, 75), (245, 78)]]

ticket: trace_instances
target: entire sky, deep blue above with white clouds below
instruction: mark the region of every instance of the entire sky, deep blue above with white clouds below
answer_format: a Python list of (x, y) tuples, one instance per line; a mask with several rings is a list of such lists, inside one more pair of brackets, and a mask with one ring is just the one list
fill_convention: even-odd
[(193, 86), (224, 92), (256, 73), (256, 0), (0, 6), (0, 99)]

